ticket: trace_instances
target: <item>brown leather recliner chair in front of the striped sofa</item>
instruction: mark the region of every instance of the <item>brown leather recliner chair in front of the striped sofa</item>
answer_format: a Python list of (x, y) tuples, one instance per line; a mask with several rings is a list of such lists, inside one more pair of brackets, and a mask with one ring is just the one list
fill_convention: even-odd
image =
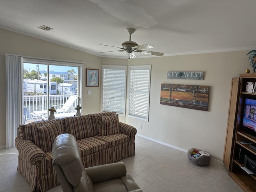
[(123, 162), (84, 168), (76, 139), (61, 134), (52, 147), (53, 162), (63, 192), (142, 192)]

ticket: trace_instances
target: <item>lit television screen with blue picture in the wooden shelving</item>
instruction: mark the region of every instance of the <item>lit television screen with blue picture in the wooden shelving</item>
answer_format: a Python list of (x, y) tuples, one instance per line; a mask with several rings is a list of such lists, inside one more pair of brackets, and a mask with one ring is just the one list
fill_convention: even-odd
[(256, 100), (245, 99), (243, 126), (256, 131)]

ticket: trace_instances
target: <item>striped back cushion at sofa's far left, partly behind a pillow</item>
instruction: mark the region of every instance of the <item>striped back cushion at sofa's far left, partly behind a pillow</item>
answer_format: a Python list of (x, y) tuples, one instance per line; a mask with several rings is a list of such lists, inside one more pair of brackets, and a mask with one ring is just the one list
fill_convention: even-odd
[(53, 120), (45, 120), (45, 121), (36, 121), (36, 122), (31, 122), (29, 124), (23, 124), (18, 127), (20, 138), (22, 139), (28, 139), (35, 143), (35, 128), (38, 126), (42, 126), (45, 124), (48, 124)]

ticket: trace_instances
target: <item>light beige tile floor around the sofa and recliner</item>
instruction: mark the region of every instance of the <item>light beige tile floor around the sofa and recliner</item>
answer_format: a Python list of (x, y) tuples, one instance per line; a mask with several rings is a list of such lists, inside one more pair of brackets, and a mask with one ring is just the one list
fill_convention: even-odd
[[(186, 152), (136, 136), (135, 156), (125, 158), (128, 174), (143, 192), (242, 192), (223, 164), (211, 161), (196, 166)], [(29, 192), (30, 186), (17, 171), (16, 148), (0, 149), (0, 192)], [(57, 186), (48, 192), (62, 192)]]

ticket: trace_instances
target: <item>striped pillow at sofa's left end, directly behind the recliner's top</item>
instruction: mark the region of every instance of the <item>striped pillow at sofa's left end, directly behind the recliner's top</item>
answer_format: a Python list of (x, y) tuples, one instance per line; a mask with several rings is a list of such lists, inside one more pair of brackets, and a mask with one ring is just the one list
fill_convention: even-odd
[(35, 128), (36, 145), (44, 152), (52, 150), (54, 139), (64, 133), (64, 125), (61, 119)]

